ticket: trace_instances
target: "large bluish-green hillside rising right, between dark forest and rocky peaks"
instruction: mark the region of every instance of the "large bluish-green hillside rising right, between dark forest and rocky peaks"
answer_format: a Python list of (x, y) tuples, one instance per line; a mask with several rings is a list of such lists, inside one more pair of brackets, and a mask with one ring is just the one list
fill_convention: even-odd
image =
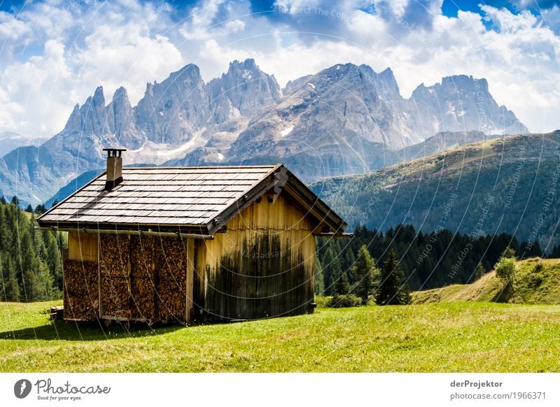
[(311, 188), (354, 227), (503, 231), (550, 250), (560, 243), (559, 155), (560, 131), (507, 136)]

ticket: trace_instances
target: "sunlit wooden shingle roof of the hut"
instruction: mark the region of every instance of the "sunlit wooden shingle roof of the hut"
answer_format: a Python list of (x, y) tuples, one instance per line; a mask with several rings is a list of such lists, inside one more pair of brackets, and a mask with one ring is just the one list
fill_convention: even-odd
[[(273, 184), (280, 164), (274, 166), (125, 167), (123, 182), (105, 190), (106, 174), (95, 178), (55, 208), (38, 218), (43, 227), (111, 227), (157, 225), (159, 229), (196, 229), (212, 233), (240, 206)], [(290, 178), (295, 178), (289, 173)], [(303, 184), (296, 179), (298, 187)], [(304, 187), (312, 201), (328, 209)], [(344, 224), (344, 227), (346, 224)], [(344, 229), (344, 228), (343, 228)], [(333, 228), (336, 230), (336, 228)], [(341, 231), (342, 232), (342, 231)]]

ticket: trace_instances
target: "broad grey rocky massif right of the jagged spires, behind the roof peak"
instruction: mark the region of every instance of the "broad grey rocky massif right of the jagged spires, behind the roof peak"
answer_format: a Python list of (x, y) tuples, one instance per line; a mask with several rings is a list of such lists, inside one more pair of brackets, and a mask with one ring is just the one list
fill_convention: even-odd
[[(440, 106), (447, 110), (437, 110)], [(167, 164), (217, 164), (220, 157), (236, 163), (281, 161), (309, 181), (378, 169), (391, 163), (391, 151), (442, 131), (528, 130), (498, 106), (484, 79), (447, 77), (433, 87), (420, 85), (404, 99), (391, 69), (376, 73), (367, 65), (339, 64), (290, 81), (279, 102), (262, 108), (230, 148), (207, 143)]]

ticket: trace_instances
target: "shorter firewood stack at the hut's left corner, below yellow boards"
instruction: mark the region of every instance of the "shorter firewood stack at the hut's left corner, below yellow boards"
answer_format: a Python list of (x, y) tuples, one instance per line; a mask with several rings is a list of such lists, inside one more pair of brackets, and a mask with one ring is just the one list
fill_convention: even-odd
[(94, 320), (99, 311), (99, 269), (94, 262), (64, 262), (64, 319)]

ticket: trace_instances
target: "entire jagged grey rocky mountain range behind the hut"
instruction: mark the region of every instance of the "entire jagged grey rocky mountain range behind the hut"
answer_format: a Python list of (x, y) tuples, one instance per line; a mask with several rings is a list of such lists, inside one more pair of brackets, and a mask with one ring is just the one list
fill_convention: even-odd
[[(109, 146), (129, 149), (128, 164), (284, 162), (310, 181), (398, 162), (403, 148), (421, 148), (442, 131), (479, 131), (472, 135), (479, 139), (528, 132), (498, 106), (486, 80), (472, 76), (422, 84), (404, 99), (391, 69), (337, 64), (281, 89), (253, 59), (232, 62), (209, 83), (189, 64), (148, 83), (134, 107), (123, 87), (109, 103), (98, 87), (40, 148), (0, 159), (0, 194), (43, 203), (80, 174), (103, 168)], [(407, 153), (418, 154), (414, 149)]]

